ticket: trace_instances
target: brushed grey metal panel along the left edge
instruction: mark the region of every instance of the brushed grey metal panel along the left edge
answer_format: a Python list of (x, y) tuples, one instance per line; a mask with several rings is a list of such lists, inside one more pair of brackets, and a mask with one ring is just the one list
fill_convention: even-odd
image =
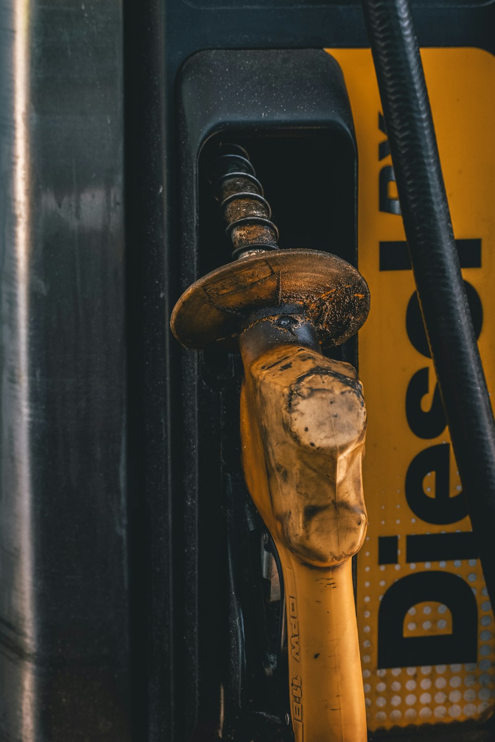
[(0, 0), (0, 738), (125, 742), (118, 0)]

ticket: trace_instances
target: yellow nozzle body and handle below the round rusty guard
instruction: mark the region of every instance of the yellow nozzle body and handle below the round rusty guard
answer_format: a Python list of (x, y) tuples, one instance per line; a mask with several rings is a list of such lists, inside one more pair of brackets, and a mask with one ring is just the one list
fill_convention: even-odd
[(361, 384), (283, 335), (259, 352), (257, 329), (240, 335), (243, 467), (283, 565), (295, 739), (365, 742), (351, 569), (367, 524)]

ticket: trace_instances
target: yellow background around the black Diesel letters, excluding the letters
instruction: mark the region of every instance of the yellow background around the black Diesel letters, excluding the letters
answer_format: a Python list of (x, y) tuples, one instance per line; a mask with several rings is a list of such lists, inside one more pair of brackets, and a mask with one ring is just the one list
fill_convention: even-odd
[[(358, 628), (370, 730), (422, 723), (482, 720), (493, 710), (495, 691), (494, 616), (479, 560), (461, 559), (410, 564), (405, 540), (410, 534), (469, 531), (468, 517), (450, 525), (420, 519), (407, 504), (407, 468), (422, 450), (448, 442), (445, 429), (435, 439), (417, 437), (407, 422), (405, 398), (413, 375), (427, 368), (430, 409), (435, 384), (433, 366), (411, 344), (406, 310), (414, 292), (410, 270), (379, 270), (379, 243), (404, 240), (401, 217), (379, 211), (378, 177), (390, 156), (378, 160), (386, 139), (378, 128), (381, 111), (369, 50), (329, 50), (344, 72), (353, 109), (359, 156), (359, 269), (370, 285), (372, 308), (359, 336), (359, 372), (367, 394), (369, 427), (364, 462), (364, 492), (369, 515), (367, 541), (358, 555)], [(463, 275), (478, 292), (483, 307), (479, 347), (488, 378), (495, 372), (495, 59), (477, 49), (422, 51), (439, 152), (456, 239), (482, 240), (482, 267)], [(389, 197), (393, 190), (389, 189)], [(433, 475), (424, 493), (435, 493)], [(460, 490), (450, 452), (450, 497)], [(378, 565), (378, 536), (399, 536), (398, 563)], [(424, 571), (456, 574), (473, 589), (478, 608), (476, 663), (378, 667), (378, 608), (390, 585)], [(439, 612), (440, 610), (440, 612)], [(445, 606), (422, 602), (404, 620), (404, 635), (434, 635), (449, 630)], [(444, 621), (445, 626), (444, 626)]]

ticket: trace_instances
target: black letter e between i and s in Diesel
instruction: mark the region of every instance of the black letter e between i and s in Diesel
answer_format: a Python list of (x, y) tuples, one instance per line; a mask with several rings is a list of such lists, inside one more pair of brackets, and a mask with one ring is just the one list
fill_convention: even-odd
[[(423, 479), (435, 472), (435, 492), (424, 492)], [(413, 513), (427, 523), (446, 525), (468, 515), (464, 493), (450, 497), (450, 444), (440, 443), (418, 453), (406, 474), (406, 499)]]

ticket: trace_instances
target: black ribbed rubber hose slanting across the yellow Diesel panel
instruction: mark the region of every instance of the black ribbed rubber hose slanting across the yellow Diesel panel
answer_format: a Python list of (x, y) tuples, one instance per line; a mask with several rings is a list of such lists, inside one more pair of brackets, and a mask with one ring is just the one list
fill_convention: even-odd
[(424, 326), (488, 593), (495, 601), (495, 424), (407, 0), (363, 0)]

